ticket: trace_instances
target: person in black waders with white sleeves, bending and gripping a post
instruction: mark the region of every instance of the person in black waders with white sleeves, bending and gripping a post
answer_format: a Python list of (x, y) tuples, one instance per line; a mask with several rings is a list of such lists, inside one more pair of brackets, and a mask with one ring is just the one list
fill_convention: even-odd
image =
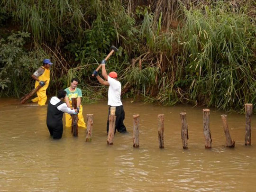
[(52, 97), (48, 103), (47, 107), (47, 118), (46, 125), (49, 129), (50, 135), (54, 139), (60, 139), (63, 133), (63, 113), (76, 114), (77, 110), (67, 107), (67, 104), (63, 100), (67, 92), (64, 90), (59, 90), (57, 92), (57, 97)]

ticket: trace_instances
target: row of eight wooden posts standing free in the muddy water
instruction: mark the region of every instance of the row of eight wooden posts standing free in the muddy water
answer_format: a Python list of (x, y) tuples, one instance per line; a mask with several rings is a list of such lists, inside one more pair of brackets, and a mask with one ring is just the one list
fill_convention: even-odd
[[(245, 104), (246, 109), (246, 135), (245, 135), (245, 145), (251, 145), (251, 116), (253, 112), (253, 105), (251, 103)], [(183, 149), (188, 148), (188, 124), (186, 119), (186, 113), (180, 113), (181, 118), (181, 137), (183, 142)], [(235, 141), (232, 140), (229, 127), (227, 123), (227, 115), (221, 115), (223, 122), (223, 130), (226, 137), (226, 146), (234, 147)], [(107, 144), (113, 145), (114, 135), (115, 135), (115, 107), (110, 108), (109, 116), (109, 133), (107, 138)], [(86, 132), (86, 141), (91, 141), (92, 136), (92, 127), (93, 127), (93, 114), (87, 114), (87, 132)], [(159, 147), (164, 148), (164, 115), (158, 115), (158, 141)], [(73, 131), (74, 133), (74, 131)], [(203, 133), (205, 137), (205, 148), (211, 148), (211, 132), (210, 132), (210, 110), (203, 109)], [(139, 115), (133, 115), (133, 147), (139, 147)]]

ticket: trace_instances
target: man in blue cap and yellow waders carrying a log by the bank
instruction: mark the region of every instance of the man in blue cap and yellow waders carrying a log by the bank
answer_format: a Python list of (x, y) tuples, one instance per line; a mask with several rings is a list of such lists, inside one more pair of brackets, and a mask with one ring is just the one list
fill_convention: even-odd
[(38, 102), (39, 106), (46, 104), (47, 96), (46, 89), (50, 82), (50, 59), (44, 59), (43, 66), (39, 67), (35, 73), (32, 74), (32, 78), (36, 80), (35, 88), (40, 84), (42, 87), (37, 91), (37, 97), (34, 98), (33, 102)]

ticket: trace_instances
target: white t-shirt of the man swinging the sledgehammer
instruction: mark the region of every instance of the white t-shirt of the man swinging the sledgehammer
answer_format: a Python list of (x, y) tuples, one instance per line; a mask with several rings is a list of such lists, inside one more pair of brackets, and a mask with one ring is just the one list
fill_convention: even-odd
[(121, 102), (121, 83), (110, 76), (108, 76), (108, 82), (110, 83), (108, 92), (108, 105), (118, 107), (123, 105)]

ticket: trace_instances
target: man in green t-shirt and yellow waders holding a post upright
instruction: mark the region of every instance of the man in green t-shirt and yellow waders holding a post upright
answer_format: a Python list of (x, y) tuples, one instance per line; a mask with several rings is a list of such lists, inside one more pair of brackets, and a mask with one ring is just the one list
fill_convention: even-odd
[[(65, 91), (67, 92), (67, 96), (65, 97), (65, 102), (68, 107), (72, 109), (72, 98), (76, 98), (76, 104), (77, 104), (77, 112), (78, 112), (78, 127), (86, 128), (83, 116), (82, 116), (82, 105), (81, 105), (81, 97), (82, 97), (82, 91), (81, 89), (77, 88), (79, 80), (77, 78), (73, 78), (71, 80), (70, 87), (66, 88)], [(66, 119), (66, 127), (72, 127), (72, 117), (70, 114), (65, 113), (65, 119)]]

